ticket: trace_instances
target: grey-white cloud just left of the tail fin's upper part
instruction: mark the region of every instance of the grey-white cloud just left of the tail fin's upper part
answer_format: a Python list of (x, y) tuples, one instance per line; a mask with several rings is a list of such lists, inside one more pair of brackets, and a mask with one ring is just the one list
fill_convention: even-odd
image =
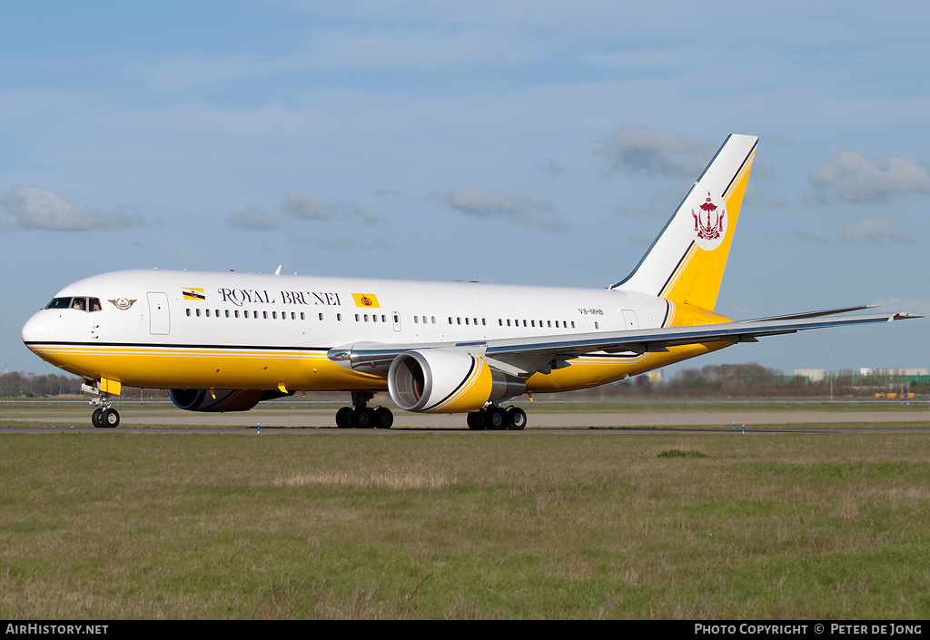
[(611, 172), (694, 180), (713, 150), (677, 133), (621, 127), (597, 152), (613, 160)]

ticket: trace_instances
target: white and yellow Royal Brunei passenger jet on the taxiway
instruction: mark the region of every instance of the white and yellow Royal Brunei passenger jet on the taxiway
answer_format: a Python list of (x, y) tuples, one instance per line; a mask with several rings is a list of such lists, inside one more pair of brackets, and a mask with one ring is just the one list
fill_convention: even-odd
[[(351, 393), (339, 428), (406, 411), (524, 429), (533, 393), (627, 379), (738, 342), (921, 317), (868, 305), (734, 321), (714, 312), (758, 138), (724, 140), (642, 260), (605, 288), (134, 270), (62, 288), (26, 346), (85, 379), (91, 421), (115, 427), (122, 385), (189, 411), (245, 411), (297, 391)], [(837, 315), (839, 317), (836, 317)]]

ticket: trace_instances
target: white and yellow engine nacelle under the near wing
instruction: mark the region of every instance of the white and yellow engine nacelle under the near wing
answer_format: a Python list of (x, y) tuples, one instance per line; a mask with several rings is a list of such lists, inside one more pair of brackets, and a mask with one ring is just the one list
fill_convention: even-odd
[(461, 413), (520, 395), (526, 383), (471, 353), (418, 349), (394, 358), (388, 390), (394, 404), (405, 411)]

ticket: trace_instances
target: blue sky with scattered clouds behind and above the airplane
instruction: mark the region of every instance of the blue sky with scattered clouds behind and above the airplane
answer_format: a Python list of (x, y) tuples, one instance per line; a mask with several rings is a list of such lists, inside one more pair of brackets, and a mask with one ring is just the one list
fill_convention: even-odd
[[(128, 268), (606, 287), (730, 133), (760, 142), (718, 313), (928, 313), (928, 19), (921, 2), (5, 7), (5, 366), (57, 371), (22, 325)], [(684, 367), (930, 367), (928, 331), (811, 331)]]

